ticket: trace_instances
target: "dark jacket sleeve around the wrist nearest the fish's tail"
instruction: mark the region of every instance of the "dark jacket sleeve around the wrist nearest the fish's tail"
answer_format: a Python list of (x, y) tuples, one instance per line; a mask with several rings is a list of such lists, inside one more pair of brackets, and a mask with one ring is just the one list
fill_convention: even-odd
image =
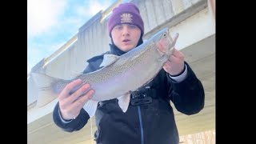
[[(83, 71), (83, 73), (88, 73), (91, 71), (91, 66), (88, 65), (86, 67), (86, 69)], [(54, 123), (62, 128), (62, 130), (68, 131), (68, 132), (73, 132), (75, 130), (80, 130), (82, 129), (83, 126), (86, 125), (86, 123), (88, 122), (88, 119), (90, 118), (89, 114), (87, 114), (86, 110), (84, 110), (83, 108), (80, 111), (80, 114), (78, 114), (78, 117), (71, 120), (71, 121), (67, 121), (65, 122), (64, 119), (62, 119), (61, 114), (59, 114), (59, 105), (58, 103), (56, 104), (56, 106), (54, 107), (54, 112), (53, 112), (53, 119), (54, 119)]]

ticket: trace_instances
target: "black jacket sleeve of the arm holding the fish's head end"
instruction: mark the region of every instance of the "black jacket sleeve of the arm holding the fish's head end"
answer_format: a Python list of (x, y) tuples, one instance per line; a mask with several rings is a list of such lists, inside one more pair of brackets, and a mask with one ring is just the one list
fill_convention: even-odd
[(182, 82), (174, 82), (167, 76), (170, 83), (169, 97), (176, 109), (183, 114), (197, 114), (203, 109), (205, 93), (200, 80), (186, 63), (187, 75)]

